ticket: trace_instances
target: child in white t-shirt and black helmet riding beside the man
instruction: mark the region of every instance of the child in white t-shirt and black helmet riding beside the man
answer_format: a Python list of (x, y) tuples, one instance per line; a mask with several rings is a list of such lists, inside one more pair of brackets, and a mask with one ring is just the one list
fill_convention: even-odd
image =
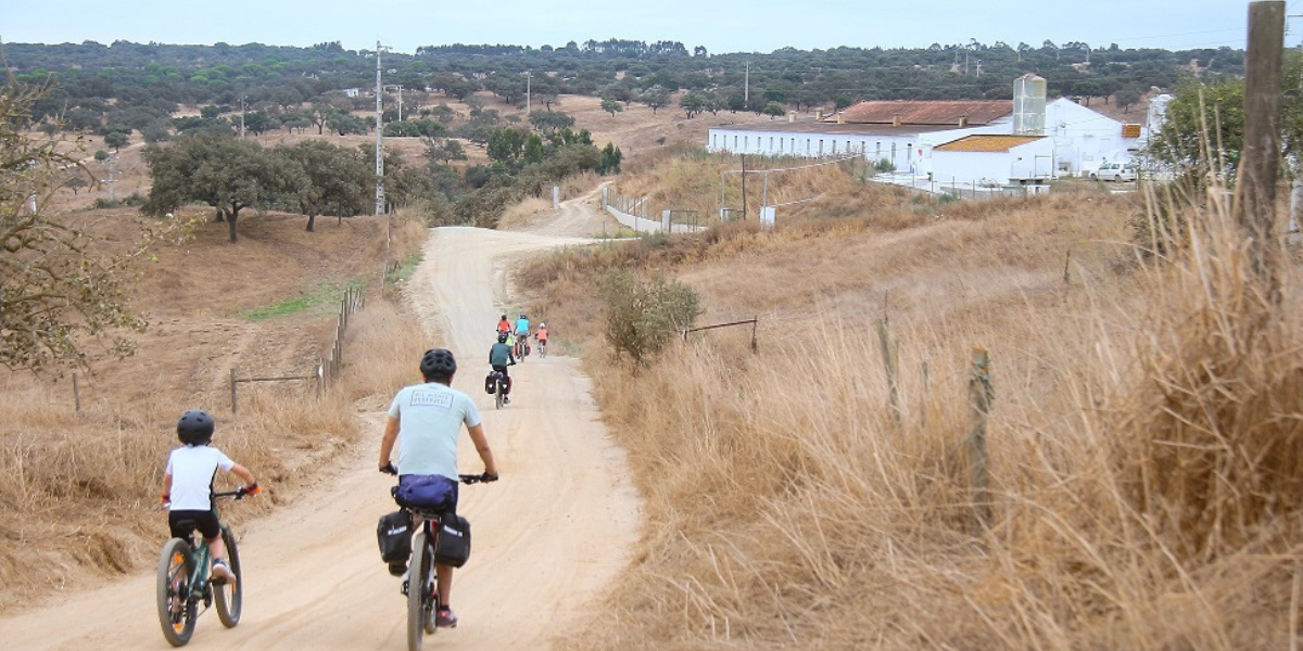
[(212, 578), (231, 579), (235, 574), (227, 566), (227, 546), (222, 543), (222, 523), (212, 508), (212, 478), (218, 469), (235, 473), (245, 480), (245, 491), (258, 495), (262, 490), (249, 469), (231, 461), (212, 441), (215, 423), (212, 415), (202, 409), (192, 409), (181, 414), (176, 423), (176, 436), (181, 447), (172, 450), (163, 473), (163, 505), (168, 508), (168, 526), (172, 538), (185, 539), (189, 531), (179, 529), (182, 519), (198, 525), (203, 539), (208, 542), (212, 553)]

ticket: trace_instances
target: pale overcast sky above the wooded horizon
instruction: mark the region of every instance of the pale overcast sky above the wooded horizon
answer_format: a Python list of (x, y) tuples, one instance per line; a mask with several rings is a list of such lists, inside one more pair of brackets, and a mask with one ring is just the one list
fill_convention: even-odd
[[(1290, 0), (1300, 13), (1303, 0)], [(1040, 47), (1244, 47), (1247, 0), (0, 0), (0, 40), (310, 46), (564, 46), (678, 40), (711, 53), (782, 47), (928, 47), (977, 39)], [(1290, 46), (1303, 40), (1291, 18)]]

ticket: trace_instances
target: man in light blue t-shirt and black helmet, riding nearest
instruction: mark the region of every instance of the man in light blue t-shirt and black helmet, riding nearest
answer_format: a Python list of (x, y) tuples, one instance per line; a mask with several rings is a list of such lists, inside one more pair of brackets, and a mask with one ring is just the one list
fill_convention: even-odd
[[(480, 410), (469, 396), (451, 387), (456, 372), (457, 361), (451, 350), (426, 350), (421, 355), (421, 376), (425, 383), (404, 387), (394, 397), (384, 439), (380, 440), (380, 473), (397, 474), (400, 490), (410, 482), (435, 479), (443, 483), (448, 495), (446, 513), (455, 513), (457, 508), (457, 436), (463, 424), (485, 464), (483, 480), (498, 480), (498, 466), (485, 437)], [(390, 461), (395, 440), (399, 444), (397, 466)], [(395, 570), (401, 573), (401, 568), (390, 568), (391, 573)], [(457, 616), (448, 605), (452, 603), (452, 566), (439, 564), (435, 572), (440, 599), (434, 622), (437, 626), (455, 628)]]

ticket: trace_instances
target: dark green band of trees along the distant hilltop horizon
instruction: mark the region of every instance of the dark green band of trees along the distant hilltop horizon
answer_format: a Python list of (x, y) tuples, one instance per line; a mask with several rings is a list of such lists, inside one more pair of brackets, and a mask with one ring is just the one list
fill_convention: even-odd
[[(137, 130), (160, 139), (203, 125), (193, 117), (175, 118), (181, 105), (232, 113), (241, 103), (246, 129), (250, 120), (254, 129), (313, 124), (321, 132), (328, 124), (348, 134), (362, 126), (341, 113), (304, 115), (302, 107), (332, 105), (343, 113), (374, 107), (365, 91), (374, 85), (375, 53), (344, 49), (337, 42), (306, 48), (10, 43), (4, 55), (17, 81), (55, 82), (33, 107), (38, 118), (60, 117), (64, 128), (104, 135)], [(689, 117), (702, 111), (762, 115), (773, 104), (800, 111), (874, 99), (1007, 99), (1011, 81), (1025, 73), (1045, 77), (1052, 96), (1128, 105), (1151, 87), (1170, 89), (1183, 77), (1216, 81), (1243, 73), (1243, 51), (1229, 47), (1167, 51), (1049, 40), (710, 55), (700, 46), (689, 52), (678, 42), (609, 39), (556, 48), (426, 46), (414, 55), (383, 56), (387, 87), (401, 86), (404, 102), (414, 109), (429, 102), (426, 91), (459, 100), (489, 91), (506, 104), (524, 104), (528, 85), (532, 102), (549, 111), (559, 95), (575, 94), (602, 98), (612, 116), (633, 102), (663, 108), (678, 91), (689, 91), (691, 100), (680, 105)], [(361, 92), (340, 99), (348, 89)], [(396, 105), (396, 98), (386, 100)], [(421, 126), (405, 125), (397, 133), (413, 129)]]

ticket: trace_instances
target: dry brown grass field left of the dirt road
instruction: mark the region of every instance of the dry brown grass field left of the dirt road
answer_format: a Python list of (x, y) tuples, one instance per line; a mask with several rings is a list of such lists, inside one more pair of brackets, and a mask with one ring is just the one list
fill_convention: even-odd
[[(129, 211), (69, 219), (108, 247), (134, 241), (141, 223)], [(139, 270), (134, 294), (151, 326), (134, 357), (95, 358), (93, 372), (79, 374), (81, 411), (70, 375), (0, 375), (0, 612), (39, 603), (73, 575), (86, 585), (152, 562), (167, 535), (156, 508), (163, 466), (185, 409), (212, 411), (215, 444), (267, 487), (265, 500), (223, 513), (238, 523), (292, 500), (313, 469), (356, 440), (357, 401), (379, 409), (409, 379), (420, 352), (388, 348), (418, 342), (416, 326), (373, 292), (345, 342), (349, 358), (366, 365), (347, 366), (319, 401), (313, 383), (242, 384), (238, 414), (231, 413), (232, 367), (241, 376), (315, 368), (334, 332), (332, 288), (379, 277), (384, 219), (319, 220), (315, 233), (304, 232), (304, 220), (275, 214), (244, 220), (240, 243), (231, 245), (224, 224), (201, 219), (193, 240), (156, 250), (156, 262)], [(397, 216), (391, 255), (418, 251), (426, 233)], [(317, 294), (330, 298), (321, 309), (259, 322), (245, 316)], [(219, 478), (227, 480), (236, 479)]]

